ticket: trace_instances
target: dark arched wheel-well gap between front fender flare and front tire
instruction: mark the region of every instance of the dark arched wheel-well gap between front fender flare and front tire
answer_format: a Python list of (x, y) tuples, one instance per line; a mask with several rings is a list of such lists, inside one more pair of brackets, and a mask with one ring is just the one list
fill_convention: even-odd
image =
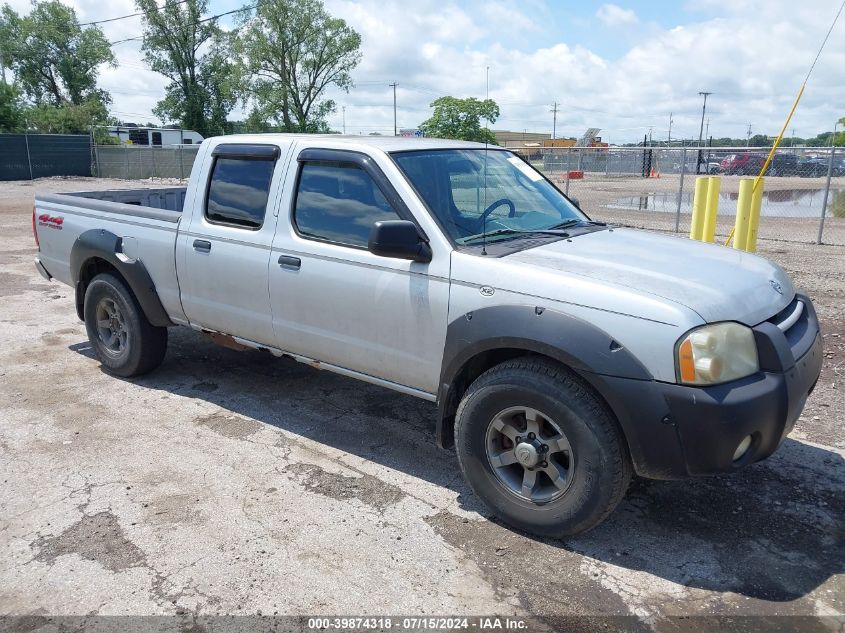
[(599, 389), (597, 389), (593, 384), (591, 384), (591, 382), (587, 380), (583, 375), (575, 371), (572, 367), (562, 362), (561, 360), (549, 356), (548, 354), (542, 354), (539, 352), (520, 348), (501, 348), (481, 352), (470, 358), (463, 365), (463, 367), (461, 367), (461, 369), (458, 371), (458, 374), (455, 376), (455, 379), (452, 381), (452, 385), (449, 389), (448, 394), (446, 395), (443, 406), (440, 408), (441, 415), (439, 416), (438, 420), (438, 439), (442, 448), (452, 448), (455, 445), (455, 413), (457, 413), (458, 411), (458, 404), (460, 403), (461, 398), (463, 397), (464, 393), (469, 388), (469, 386), (473, 383), (473, 381), (485, 371), (491, 369), (492, 367), (495, 367), (496, 365), (504, 363), (505, 361), (511, 360), (513, 358), (524, 357), (544, 359), (546, 361), (559, 365), (560, 367), (563, 367), (567, 371), (571, 372), (573, 375), (577, 376), (578, 379), (584, 383), (584, 386), (590, 391), (592, 391), (596, 395), (596, 397), (604, 404), (604, 406), (607, 407), (607, 411), (610, 414), (613, 423), (616, 425), (617, 430), (619, 431), (619, 436), (622, 438), (622, 443), (625, 446), (625, 450), (628, 452), (629, 456), (631, 455), (631, 447), (628, 444), (628, 437), (625, 435), (625, 430), (622, 428), (622, 425), (620, 424), (616, 412), (613, 410), (613, 407), (601, 394)]

